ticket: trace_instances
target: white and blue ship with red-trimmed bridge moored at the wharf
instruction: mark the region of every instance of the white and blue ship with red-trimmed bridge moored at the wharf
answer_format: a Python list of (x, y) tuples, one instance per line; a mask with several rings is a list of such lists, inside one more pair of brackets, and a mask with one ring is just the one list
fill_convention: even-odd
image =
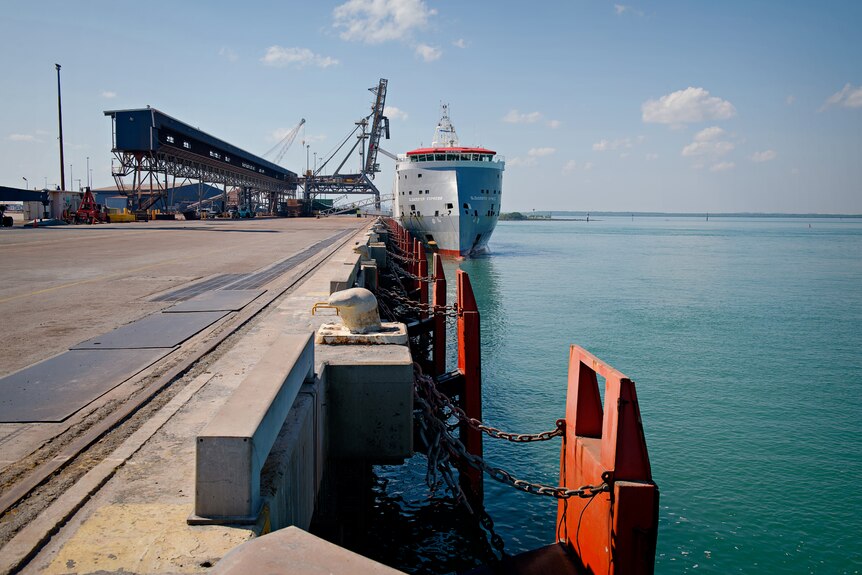
[(462, 147), (449, 106), (442, 108), (431, 147), (398, 155), (394, 215), (443, 255), (487, 253), (500, 216), (505, 161), (487, 148)]

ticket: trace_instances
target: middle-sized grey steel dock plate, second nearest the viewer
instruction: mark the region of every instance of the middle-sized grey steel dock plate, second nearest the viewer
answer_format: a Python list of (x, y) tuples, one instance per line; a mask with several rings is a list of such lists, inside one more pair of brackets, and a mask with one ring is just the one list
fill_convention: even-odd
[(81, 342), (71, 349), (174, 347), (229, 312), (157, 313)]

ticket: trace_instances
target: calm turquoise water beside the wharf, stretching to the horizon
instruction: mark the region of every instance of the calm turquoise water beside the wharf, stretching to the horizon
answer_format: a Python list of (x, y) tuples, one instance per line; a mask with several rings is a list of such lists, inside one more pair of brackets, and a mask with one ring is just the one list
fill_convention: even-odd
[[(460, 263), (485, 419), (553, 428), (572, 343), (631, 377), (661, 489), (657, 573), (862, 571), (862, 220), (500, 222), (491, 247)], [(558, 480), (557, 441), (486, 440), (485, 455)], [(419, 542), (377, 556), (419, 572), (480, 562), (443, 559), (469, 555), (472, 535), (429, 497), (423, 464), (379, 469), (377, 507)], [(507, 552), (553, 541), (553, 500), (485, 488)]]

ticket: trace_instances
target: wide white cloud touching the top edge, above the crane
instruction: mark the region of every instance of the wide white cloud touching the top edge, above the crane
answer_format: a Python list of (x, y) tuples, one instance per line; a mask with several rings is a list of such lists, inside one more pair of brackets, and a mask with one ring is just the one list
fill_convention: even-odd
[(342, 40), (366, 44), (410, 38), (435, 14), (423, 0), (348, 0), (332, 11)]

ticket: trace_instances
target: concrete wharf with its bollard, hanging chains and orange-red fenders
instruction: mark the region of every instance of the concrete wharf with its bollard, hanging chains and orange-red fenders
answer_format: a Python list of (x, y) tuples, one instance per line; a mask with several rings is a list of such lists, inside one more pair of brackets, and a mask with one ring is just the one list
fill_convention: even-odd
[[(0, 575), (397, 573), (307, 530), (338, 541), (350, 505), (339, 485), (414, 448), (469, 463), (462, 487), (447, 471), (455, 493), (481, 501), (484, 471), (558, 500), (557, 541), (504, 558), (507, 572), (652, 572), (659, 493), (634, 382), (572, 345), (554, 431), (482, 425), (469, 277), (457, 272), (447, 306), (439, 254), (429, 269), (394, 220), (163, 221), (0, 240), (13, 270), (0, 286)], [(381, 323), (378, 304), (395, 321)], [(564, 437), (560, 483), (489, 466), (482, 433)]]

